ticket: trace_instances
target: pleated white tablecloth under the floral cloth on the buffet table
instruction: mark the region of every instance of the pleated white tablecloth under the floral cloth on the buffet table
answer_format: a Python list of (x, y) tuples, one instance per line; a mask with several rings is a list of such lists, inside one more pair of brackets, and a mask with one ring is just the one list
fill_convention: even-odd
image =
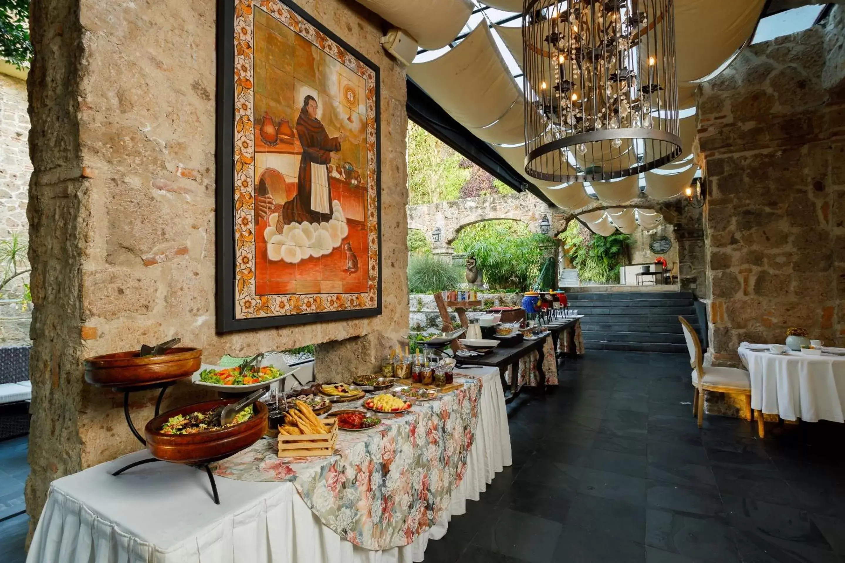
[(478, 500), (496, 472), (511, 463), (504, 393), (495, 368), (462, 371), (482, 377), (481, 406), (466, 475), (450, 514), (401, 548), (371, 551), (326, 528), (291, 483), (216, 477), (219, 506), (207, 475), (172, 463), (111, 473), (144, 450), (57, 479), (35, 529), (27, 563), (411, 563), (429, 539)]

